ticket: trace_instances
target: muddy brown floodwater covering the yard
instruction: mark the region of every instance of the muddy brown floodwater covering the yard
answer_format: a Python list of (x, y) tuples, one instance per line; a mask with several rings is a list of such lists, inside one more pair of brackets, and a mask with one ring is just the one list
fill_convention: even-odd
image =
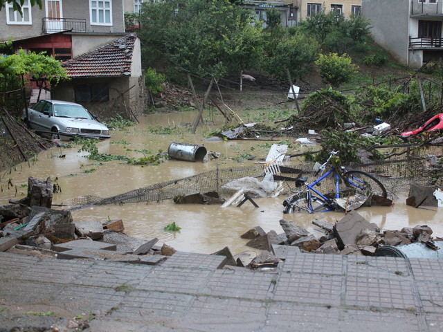
[[(140, 124), (128, 127), (124, 131), (114, 131), (109, 140), (98, 143), (100, 153), (120, 154), (140, 158), (143, 152), (150, 153), (168, 150), (171, 142), (204, 144), (206, 149), (221, 153), (221, 157), (208, 163), (192, 163), (180, 160), (167, 160), (161, 165), (136, 166), (115, 160), (99, 164), (87, 159), (87, 153), (79, 152), (80, 147), (54, 147), (44, 151), (33, 163), (22, 163), (15, 169), (1, 174), (0, 205), (9, 199), (21, 199), (26, 196), (28, 177), (39, 179), (51, 177), (60, 185), (62, 192), (53, 195), (53, 203), (71, 205), (73, 199), (92, 195), (101, 198), (123, 194), (130, 190), (147, 187), (154, 183), (184, 178), (215, 167), (253, 165), (260, 158), (266, 158), (269, 144), (285, 138), (267, 140), (221, 140), (204, 142), (203, 134), (220, 127), (224, 122), (213, 115), (205, 125), (190, 133), (190, 124), (196, 117), (193, 111), (180, 113), (159, 113), (142, 116)], [(247, 121), (247, 118), (243, 120)], [(147, 128), (162, 126), (174, 129), (174, 134), (150, 133)], [(293, 138), (289, 139), (292, 142)], [(296, 154), (306, 147), (292, 147), (288, 154)], [(136, 151), (138, 150), (138, 151)], [(243, 160), (242, 154), (256, 156), (255, 160)], [(238, 160), (239, 159), (239, 160)], [(13, 187), (8, 187), (8, 181)], [(443, 237), (443, 222), (438, 208), (411, 208), (406, 205), (407, 192), (395, 192), (397, 199), (392, 207), (372, 207), (358, 210), (365, 219), (377, 223), (383, 230), (399, 230), (405, 226), (429, 225), (434, 235)], [(261, 226), (266, 232), (282, 232), (280, 219), (294, 221), (316, 234), (311, 227), (313, 219), (335, 222), (343, 218), (339, 212), (320, 214), (283, 214), (282, 201), (286, 196), (277, 198), (254, 199), (260, 208), (246, 202), (242, 207), (232, 205), (220, 208), (219, 205), (177, 205), (172, 201), (160, 203), (126, 203), (124, 205), (101, 205), (93, 208), (73, 211), (75, 222), (107, 221), (122, 219), (125, 232), (133, 237), (150, 240), (159, 239), (158, 244), (167, 243), (177, 250), (188, 252), (212, 253), (228, 246), (234, 255), (248, 252), (254, 255), (252, 248), (245, 246), (246, 240), (240, 235), (247, 230)], [(65, 208), (69, 208), (65, 207)], [(440, 213), (439, 213), (440, 212)], [(175, 222), (179, 232), (165, 232), (168, 223)]]

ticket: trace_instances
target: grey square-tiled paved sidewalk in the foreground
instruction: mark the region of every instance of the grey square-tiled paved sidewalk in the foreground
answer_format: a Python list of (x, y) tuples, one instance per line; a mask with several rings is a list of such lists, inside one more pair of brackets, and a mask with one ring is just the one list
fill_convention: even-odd
[(106, 332), (443, 331), (443, 261), (285, 255), (252, 271), (188, 252), (159, 266), (0, 252), (0, 331), (73, 331), (80, 314)]

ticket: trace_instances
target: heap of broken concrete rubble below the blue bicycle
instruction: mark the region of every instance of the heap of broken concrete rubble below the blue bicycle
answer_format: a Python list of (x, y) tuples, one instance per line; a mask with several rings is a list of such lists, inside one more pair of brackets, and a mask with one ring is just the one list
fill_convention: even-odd
[[(248, 230), (242, 238), (249, 239), (246, 246), (260, 250), (269, 250), (275, 254), (275, 245), (279, 250), (287, 246), (297, 247), (300, 252), (314, 252), (334, 255), (377, 255), (377, 249), (384, 246), (405, 246), (410, 243), (423, 243), (426, 248), (440, 250), (433, 242), (433, 231), (427, 225), (414, 228), (381, 231), (376, 224), (370, 223), (354, 210), (341, 220), (332, 224), (327, 221), (312, 221), (318, 226), (317, 235), (311, 234), (299, 225), (280, 220), (284, 233), (271, 230), (265, 234), (257, 232), (257, 227)], [(320, 235), (318, 235), (320, 234)], [(252, 238), (255, 236), (255, 238)], [(254, 261), (257, 264), (257, 261)], [(266, 263), (266, 260), (260, 263)]]

